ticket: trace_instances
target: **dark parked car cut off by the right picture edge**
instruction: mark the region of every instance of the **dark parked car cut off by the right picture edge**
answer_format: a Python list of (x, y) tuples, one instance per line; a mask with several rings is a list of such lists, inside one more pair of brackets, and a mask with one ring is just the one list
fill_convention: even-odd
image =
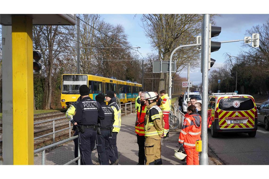
[(269, 100), (257, 107), (258, 123), (264, 124), (265, 130), (269, 130)]

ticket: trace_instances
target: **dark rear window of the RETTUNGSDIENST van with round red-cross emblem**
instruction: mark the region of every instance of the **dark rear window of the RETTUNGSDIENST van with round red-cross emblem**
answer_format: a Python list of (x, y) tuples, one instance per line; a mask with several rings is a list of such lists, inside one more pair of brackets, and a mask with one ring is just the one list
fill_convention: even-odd
[(221, 99), (218, 108), (224, 111), (248, 111), (254, 108), (251, 98), (225, 98)]

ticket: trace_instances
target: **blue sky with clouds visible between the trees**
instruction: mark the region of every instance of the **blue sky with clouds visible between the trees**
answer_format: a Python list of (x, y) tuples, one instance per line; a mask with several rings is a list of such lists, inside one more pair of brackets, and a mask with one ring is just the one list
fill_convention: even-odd
[[(141, 14), (100, 14), (104, 21), (111, 24), (122, 24), (128, 34), (129, 42), (133, 47), (139, 46), (139, 52), (145, 57), (147, 53), (151, 53), (152, 49), (148, 43), (148, 39), (141, 27)], [(134, 17), (135, 16), (135, 17)], [(269, 14), (222, 14), (222, 17), (216, 17), (216, 26), (221, 27), (221, 33), (214, 38), (214, 41), (229, 41), (244, 39), (246, 30), (256, 25), (262, 25), (269, 18)], [(213, 40), (212, 40), (213, 41)], [(243, 48), (243, 42), (222, 43), (220, 50), (211, 53), (211, 58), (216, 60), (214, 67), (220, 67), (225, 61), (225, 53), (236, 56)], [(212, 70), (216, 68), (211, 68)], [(180, 76), (187, 77), (187, 72), (183, 71)], [(202, 82), (202, 74), (200, 67), (192, 69), (190, 73), (190, 81), (193, 84)]]

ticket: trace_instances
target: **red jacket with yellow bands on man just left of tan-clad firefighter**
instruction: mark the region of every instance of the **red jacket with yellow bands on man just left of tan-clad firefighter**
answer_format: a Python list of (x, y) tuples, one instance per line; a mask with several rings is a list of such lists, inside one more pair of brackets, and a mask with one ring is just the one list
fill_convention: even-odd
[(144, 122), (145, 122), (145, 115), (147, 111), (147, 105), (138, 106), (138, 111), (136, 115), (136, 124), (135, 124), (135, 133), (138, 134), (139, 136), (144, 136), (145, 135), (145, 130), (144, 130)]

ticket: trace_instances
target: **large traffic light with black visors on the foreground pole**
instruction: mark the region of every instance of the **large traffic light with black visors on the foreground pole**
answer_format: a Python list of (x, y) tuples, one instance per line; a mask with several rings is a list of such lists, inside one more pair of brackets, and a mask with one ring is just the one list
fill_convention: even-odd
[[(202, 25), (203, 27), (203, 25)], [(209, 24), (209, 53), (208, 53), (208, 70), (214, 65), (215, 61), (214, 59), (211, 59), (211, 52), (218, 51), (221, 47), (221, 42), (214, 42), (211, 41), (211, 37), (215, 37), (220, 35), (221, 27), (211, 26), (211, 23)], [(202, 37), (203, 37), (203, 28), (202, 28)], [(203, 44), (203, 38), (201, 40), (201, 44)], [(203, 45), (201, 49), (201, 72), (203, 70)]]

